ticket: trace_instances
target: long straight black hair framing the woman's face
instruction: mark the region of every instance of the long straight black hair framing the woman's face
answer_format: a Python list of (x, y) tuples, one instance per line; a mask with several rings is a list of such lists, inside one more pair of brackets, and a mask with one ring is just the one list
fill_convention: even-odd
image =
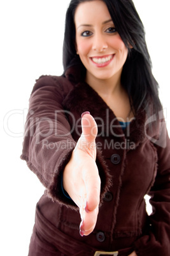
[[(71, 0), (66, 13), (66, 29), (63, 45), (64, 71), (70, 66), (81, 67), (85, 78), (86, 69), (81, 63), (75, 48), (74, 13), (78, 4), (94, 0)], [(141, 108), (150, 115), (148, 105), (153, 103), (154, 113), (162, 109), (158, 83), (152, 75), (152, 62), (145, 41), (145, 30), (132, 0), (102, 0), (110, 12), (115, 28), (129, 50), (122, 70), (121, 81), (131, 99), (132, 108), (137, 112)], [(132, 46), (132, 48), (131, 48)]]

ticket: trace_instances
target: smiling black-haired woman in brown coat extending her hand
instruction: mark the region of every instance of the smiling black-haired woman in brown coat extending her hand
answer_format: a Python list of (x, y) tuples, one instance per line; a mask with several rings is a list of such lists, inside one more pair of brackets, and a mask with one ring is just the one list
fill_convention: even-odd
[(72, 0), (63, 52), (25, 125), (21, 157), (46, 187), (29, 255), (169, 255), (170, 143), (132, 1)]

